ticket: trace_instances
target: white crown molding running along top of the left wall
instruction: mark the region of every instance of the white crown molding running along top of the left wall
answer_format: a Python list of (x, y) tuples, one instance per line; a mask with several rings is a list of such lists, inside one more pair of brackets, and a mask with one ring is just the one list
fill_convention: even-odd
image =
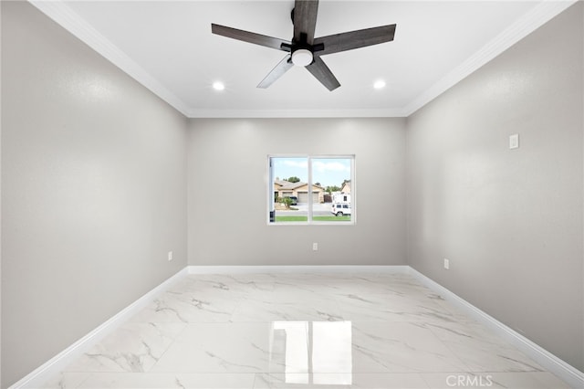
[(90, 26), (89, 23), (78, 16), (68, 5), (62, 1), (28, 0), (39, 11), (62, 26), (73, 36), (78, 37), (83, 43), (97, 51), (102, 57), (108, 59), (113, 65), (127, 73), (132, 79), (137, 80), (152, 93), (170, 104), (174, 109), (187, 116), (188, 108), (183, 100), (176, 97), (169, 89), (166, 89), (158, 79), (154, 79), (144, 68), (128, 57), (119, 47)]

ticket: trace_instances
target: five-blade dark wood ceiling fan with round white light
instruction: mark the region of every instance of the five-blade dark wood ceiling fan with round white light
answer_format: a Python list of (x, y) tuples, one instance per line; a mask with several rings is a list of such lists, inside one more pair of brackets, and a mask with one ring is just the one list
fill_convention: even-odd
[(257, 88), (267, 88), (293, 66), (308, 69), (328, 90), (340, 87), (339, 80), (322, 60), (322, 56), (339, 53), (353, 48), (367, 47), (390, 42), (395, 35), (395, 26), (365, 28), (328, 37), (314, 37), (317, 25), (318, 0), (296, 0), (292, 9), (294, 37), (292, 41), (277, 37), (267, 37), (228, 26), (211, 24), (211, 32), (223, 37), (231, 37), (255, 45), (286, 51), (287, 56), (270, 71)]

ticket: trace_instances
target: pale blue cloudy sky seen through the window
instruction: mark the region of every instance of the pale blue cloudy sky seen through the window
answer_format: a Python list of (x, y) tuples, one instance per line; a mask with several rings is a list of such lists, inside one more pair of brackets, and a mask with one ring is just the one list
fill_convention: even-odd
[[(312, 182), (323, 187), (341, 186), (344, 180), (350, 180), (350, 158), (311, 158)], [(307, 157), (273, 157), (274, 179), (280, 180), (297, 176), (300, 181), (308, 183)]]

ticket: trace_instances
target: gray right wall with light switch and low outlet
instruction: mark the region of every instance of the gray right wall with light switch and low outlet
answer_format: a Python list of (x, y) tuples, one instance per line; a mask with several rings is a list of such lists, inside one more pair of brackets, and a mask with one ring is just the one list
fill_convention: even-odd
[(583, 6), (407, 121), (409, 264), (580, 371)]

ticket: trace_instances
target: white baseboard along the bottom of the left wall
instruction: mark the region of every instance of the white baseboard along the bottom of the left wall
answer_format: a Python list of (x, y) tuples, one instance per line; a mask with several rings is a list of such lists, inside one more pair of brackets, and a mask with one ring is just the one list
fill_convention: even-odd
[(67, 349), (59, 352), (46, 363), (43, 363), (32, 373), (28, 373), (24, 378), (16, 382), (16, 384), (10, 386), (8, 389), (32, 389), (41, 387), (43, 384), (46, 384), (47, 380), (61, 372), (68, 366), (69, 363), (72, 363), (75, 359), (81, 356), (83, 352), (89, 351), (92, 346), (105, 338), (122, 323), (130, 320), (132, 316), (148, 306), (148, 304), (150, 304), (156, 298), (156, 296), (160, 295), (162, 292), (164, 292), (164, 290), (169, 289), (169, 287), (175, 282), (186, 277), (187, 274), (187, 268), (183, 268), (170, 279), (166, 279), (162, 282), (162, 284), (154, 289), (151, 289), (151, 291), (147, 292), (140, 299), (132, 302), (123, 310), (120, 310), (120, 312), (116, 313), (108, 321), (100, 324), (99, 327), (97, 327), (95, 330), (90, 331), (83, 338), (68, 346)]

